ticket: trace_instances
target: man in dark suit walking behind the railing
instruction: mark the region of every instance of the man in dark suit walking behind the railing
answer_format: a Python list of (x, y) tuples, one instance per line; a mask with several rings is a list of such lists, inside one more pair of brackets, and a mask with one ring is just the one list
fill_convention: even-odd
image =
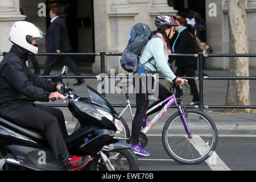
[[(49, 15), (51, 17), (51, 25), (48, 28), (46, 34), (46, 51), (47, 52), (69, 52), (71, 51), (71, 44), (68, 40), (67, 27), (63, 18), (59, 17), (59, 7), (52, 7)], [(61, 61), (64, 65), (67, 65), (74, 75), (80, 76), (80, 72), (76, 67), (75, 62), (70, 56), (47, 56), (46, 65), (43, 75), (49, 75), (53, 65), (56, 61)], [(81, 85), (85, 82), (82, 78), (77, 78), (77, 82), (74, 85)]]

